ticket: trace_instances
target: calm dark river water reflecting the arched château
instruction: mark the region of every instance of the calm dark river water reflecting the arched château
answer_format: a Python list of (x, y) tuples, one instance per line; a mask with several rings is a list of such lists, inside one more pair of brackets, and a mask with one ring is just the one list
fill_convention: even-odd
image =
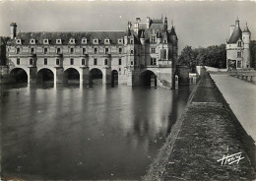
[(140, 179), (189, 88), (1, 86), (2, 176)]

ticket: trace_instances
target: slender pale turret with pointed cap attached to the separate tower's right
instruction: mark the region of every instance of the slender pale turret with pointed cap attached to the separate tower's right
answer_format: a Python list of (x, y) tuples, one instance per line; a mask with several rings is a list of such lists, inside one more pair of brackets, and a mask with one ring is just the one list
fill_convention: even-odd
[(251, 56), (250, 56), (250, 41), (251, 41), (251, 32), (248, 29), (247, 23), (246, 27), (242, 31), (242, 40), (243, 40), (243, 68), (250, 68)]

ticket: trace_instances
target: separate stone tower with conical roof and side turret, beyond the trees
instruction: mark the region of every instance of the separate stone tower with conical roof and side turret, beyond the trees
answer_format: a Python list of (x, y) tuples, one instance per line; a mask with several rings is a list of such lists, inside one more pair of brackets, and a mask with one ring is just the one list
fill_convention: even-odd
[(230, 26), (230, 37), (225, 46), (226, 68), (228, 70), (250, 68), (250, 41), (251, 32), (247, 24), (242, 31), (237, 19), (235, 26)]

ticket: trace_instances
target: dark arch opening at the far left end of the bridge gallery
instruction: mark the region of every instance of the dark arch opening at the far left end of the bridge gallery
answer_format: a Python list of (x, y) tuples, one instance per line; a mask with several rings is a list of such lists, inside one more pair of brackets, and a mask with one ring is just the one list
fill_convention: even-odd
[(11, 79), (14, 83), (28, 83), (29, 74), (23, 68), (14, 68), (10, 71)]

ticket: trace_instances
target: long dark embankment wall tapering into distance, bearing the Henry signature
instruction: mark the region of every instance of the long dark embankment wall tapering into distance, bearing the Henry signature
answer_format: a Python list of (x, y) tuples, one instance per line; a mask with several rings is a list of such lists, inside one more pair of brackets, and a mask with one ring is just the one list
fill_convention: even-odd
[[(255, 172), (222, 93), (204, 72), (144, 180), (253, 180)], [(218, 161), (240, 152), (239, 162)], [(240, 157), (240, 158), (241, 158)]]

